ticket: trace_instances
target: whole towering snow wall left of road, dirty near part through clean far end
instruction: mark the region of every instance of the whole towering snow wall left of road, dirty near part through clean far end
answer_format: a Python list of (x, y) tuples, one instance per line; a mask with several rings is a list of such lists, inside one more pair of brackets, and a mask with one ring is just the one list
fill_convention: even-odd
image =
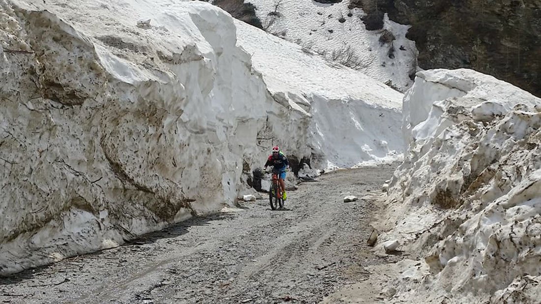
[[(241, 25), (208, 3), (0, 0), (0, 8), (2, 274), (232, 205), (272, 145), (321, 168), (392, 160), (402, 148), (390, 144), (400, 93), (342, 67), (294, 91), (271, 85), (282, 61), (267, 69), (245, 49), (290, 44), (248, 28), (237, 43)], [(293, 83), (325, 63), (282, 59)], [(333, 121), (346, 138), (327, 137)], [(359, 153), (342, 159), (339, 145)]]

